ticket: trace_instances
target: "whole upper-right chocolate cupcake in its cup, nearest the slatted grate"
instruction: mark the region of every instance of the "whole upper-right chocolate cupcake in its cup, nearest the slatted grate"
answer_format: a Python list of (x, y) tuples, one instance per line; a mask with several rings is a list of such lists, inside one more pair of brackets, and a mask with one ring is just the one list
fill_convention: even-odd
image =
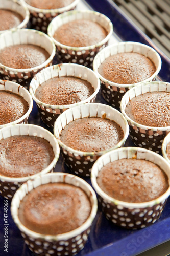
[(151, 47), (139, 42), (118, 42), (103, 49), (93, 61), (107, 103), (120, 108), (123, 95), (141, 82), (154, 81), (161, 58)]

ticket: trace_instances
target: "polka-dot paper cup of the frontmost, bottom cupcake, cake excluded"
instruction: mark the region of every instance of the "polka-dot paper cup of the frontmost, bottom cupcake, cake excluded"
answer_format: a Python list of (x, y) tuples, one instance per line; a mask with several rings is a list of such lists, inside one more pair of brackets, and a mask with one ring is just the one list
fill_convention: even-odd
[[(46, 183), (66, 183), (80, 187), (91, 202), (91, 212), (88, 219), (78, 228), (57, 235), (44, 235), (33, 232), (23, 226), (18, 218), (18, 208), (21, 200), (33, 189)], [(23, 184), (15, 193), (11, 203), (12, 218), (20, 229), (22, 237), (29, 249), (38, 255), (75, 255), (83, 249), (90, 232), (91, 224), (98, 209), (96, 195), (92, 187), (83, 179), (70, 174), (53, 173), (39, 176)]]

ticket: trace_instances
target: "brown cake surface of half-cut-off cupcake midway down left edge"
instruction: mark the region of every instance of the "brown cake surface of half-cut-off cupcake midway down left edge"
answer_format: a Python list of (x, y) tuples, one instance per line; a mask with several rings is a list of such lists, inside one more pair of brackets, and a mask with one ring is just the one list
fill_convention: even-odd
[(29, 110), (28, 102), (10, 91), (0, 91), (0, 125), (18, 120)]

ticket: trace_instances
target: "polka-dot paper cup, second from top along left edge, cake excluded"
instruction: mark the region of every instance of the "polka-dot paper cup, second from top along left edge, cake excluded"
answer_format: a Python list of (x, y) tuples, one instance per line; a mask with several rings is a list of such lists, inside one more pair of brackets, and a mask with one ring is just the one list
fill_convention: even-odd
[(55, 56), (55, 45), (51, 38), (46, 34), (33, 29), (15, 29), (0, 34), (0, 50), (5, 47), (22, 44), (32, 44), (45, 49), (50, 57), (41, 65), (30, 69), (14, 69), (3, 65), (0, 62), (0, 74), (2, 79), (17, 82), (29, 88), (30, 81), (40, 70), (51, 66)]

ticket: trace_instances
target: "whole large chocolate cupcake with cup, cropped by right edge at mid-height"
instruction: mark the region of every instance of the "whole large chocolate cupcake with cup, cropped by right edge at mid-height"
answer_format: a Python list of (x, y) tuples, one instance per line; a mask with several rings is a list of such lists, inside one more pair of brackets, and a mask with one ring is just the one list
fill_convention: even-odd
[(123, 96), (120, 109), (136, 146), (161, 153), (163, 139), (170, 131), (169, 99), (166, 82), (141, 83)]

